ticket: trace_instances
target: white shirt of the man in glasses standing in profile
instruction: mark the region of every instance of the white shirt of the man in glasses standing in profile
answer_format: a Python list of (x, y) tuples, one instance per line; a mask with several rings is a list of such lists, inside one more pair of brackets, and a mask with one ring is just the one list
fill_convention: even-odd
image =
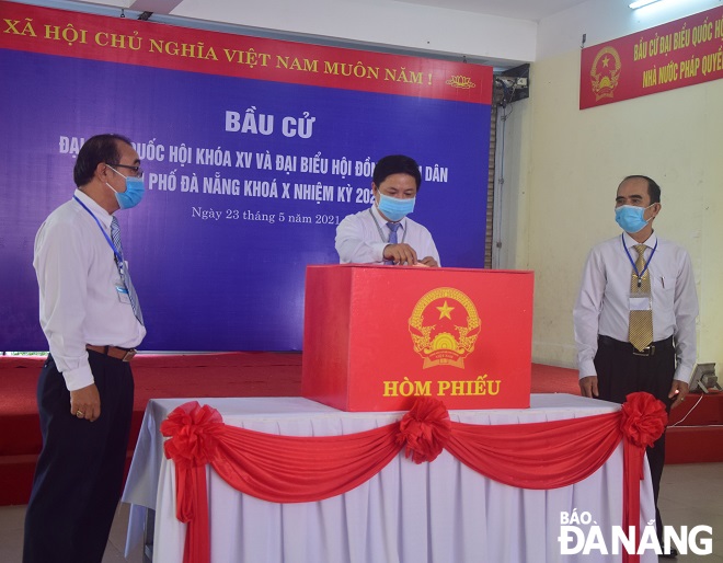
[[(80, 189), (78, 197), (106, 233), (112, 216)], [(120, 276), (101, 228), (71, 199), (53, 211), (35, 237), (33, 266), (41, 296), (41, 326), (70, 391), (93, 383), (87, 344), (136, 347), (146, 329), (119, 297)]]

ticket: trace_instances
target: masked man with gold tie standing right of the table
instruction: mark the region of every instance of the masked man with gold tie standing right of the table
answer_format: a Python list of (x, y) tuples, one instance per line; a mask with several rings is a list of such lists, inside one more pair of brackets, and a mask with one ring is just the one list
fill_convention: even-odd
[[(688, 394), (698, 297), (688, 252), (653, 232), (658, 212), (661, 188), (653, 180), (622, 181), (616, 221), (624, 232), (590, 251), (573, 318), (584, 397), (623, 403), (629, 393), (647, 391), (669, 411)], [(665, 435), (647, 449), (647, 460), (661, 537)]]

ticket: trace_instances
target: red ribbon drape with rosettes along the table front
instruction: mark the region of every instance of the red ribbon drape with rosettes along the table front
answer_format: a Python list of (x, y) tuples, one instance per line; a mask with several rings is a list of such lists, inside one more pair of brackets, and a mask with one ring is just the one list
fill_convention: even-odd
[[(324, 437), (227, 426), (216, 410), (193, 401), (175, 409), (161, 433), (169, 437), (165, 456), (175, 462), (176, 517), (188, 525), (184, 563), (210, 563), (206, 464), (236, 490), (274, 503), (322, 501), (351, 491), (402, 448), (415, 463), (434, 461), (447, 449), (494, 481), (549, 490), (592, 475), (624, 439), (623, 526), (638, 529), (645, 448), (666, 424), (665, 405), (640, 392), (628, 395), (617, 413), (493, 426), (451, 422), (440, 401), (421, 398), (398, 423)], [(639, 556), (623, 553), (623, 561)]]

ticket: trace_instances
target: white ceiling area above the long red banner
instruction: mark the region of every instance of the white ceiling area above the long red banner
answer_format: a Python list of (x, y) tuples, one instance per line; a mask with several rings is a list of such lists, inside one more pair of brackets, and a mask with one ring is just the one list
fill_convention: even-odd
[[(586, 4), (629, 0), (19, 0), (116, 13), (124, 8), (181, 18), (200, 27), (240, 26), (272, 38), (313, 37), (323, 45), (383, 46), (398, 54), (458, 58), (495, 68), (535, 60), (538, 22)], [(592, 9), (590, 9), (592, 10)], [(405, 25), (400, 25), (405, 22)], [(164, 23), (175, 23), (165, 20)], [(454, 31), (452, 31), (454, 30)], [(278, 34), (277, 37), (275, 34)]]

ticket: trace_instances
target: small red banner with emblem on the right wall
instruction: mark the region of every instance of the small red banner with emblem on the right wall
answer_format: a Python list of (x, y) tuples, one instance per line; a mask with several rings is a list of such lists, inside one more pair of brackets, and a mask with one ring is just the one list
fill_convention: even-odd
[(723, 7), (583, 49), (579, 108), (723, 78)]

